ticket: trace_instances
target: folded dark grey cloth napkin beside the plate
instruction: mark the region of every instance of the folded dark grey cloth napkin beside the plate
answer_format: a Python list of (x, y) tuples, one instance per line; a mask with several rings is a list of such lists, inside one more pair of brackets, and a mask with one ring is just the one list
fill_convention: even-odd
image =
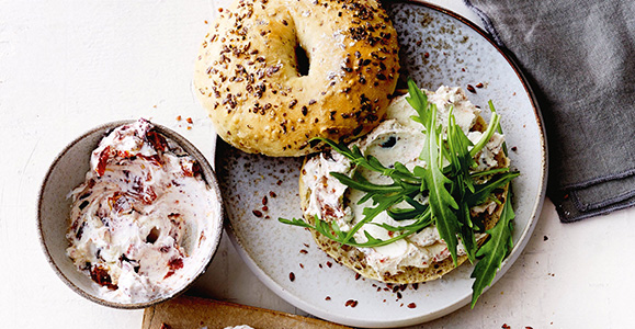
[(536, 91), (560, 220), (634, 205), (635, 1), (464, 1)]

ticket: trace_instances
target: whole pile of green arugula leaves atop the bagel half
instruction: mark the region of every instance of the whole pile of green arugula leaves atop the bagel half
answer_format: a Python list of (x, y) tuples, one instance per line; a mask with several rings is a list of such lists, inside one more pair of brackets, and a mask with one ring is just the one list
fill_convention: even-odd
[[(388, 168), (375, 157), (364, 156), (356, 145), (349, 148), (343, 143), (317, 138), (351, 160), (355, 168), (362, 167), (379, 172), (390, 178), (393, 183), (372, 183), (358, 171), (354, 171), (352, 177), (330, 172), (342, 184), (365, 192), (359, 204), (372, 200), (373, 206), (364, 208), (363, 218), (349, 231), (341, 230), (334, 220), (327, 222), (318, 218), (317, 215), (315, 216), (315, 225), (297, 218), (291, 220), (280, 218), (279, 220), (284, 224), (315, 229), (342, 245), (362, 248), (386, 246), (419, 232), (430, 225), (435, 225), (439, 236), (447, 246), (454, 265), (457, 261), (458, 240), (463, 242), (470, 262), (480, 259), (472, 273), (472, 277), (475, 279), (472, 299), (472, 307), (474, 307), (483, 290), (491, 284), (502, 260), (509, 254), (513, 246), (511, 236), (514, 213), (511, 197), (508, 196), (497, 225), (485, 231), (481, 219), (473, 218), (469, 209), (489, 200), (498, 202), (495, 193), (504, 189), (520, 173), (511, 172), (509, 168), (470, 172), (476, 167), (474, 157), (485, 147), (495, 132), (501, 132), (500, 115), (496, 113), (491, 101), (489, 107), (492, 115), (488, 128), (481, 138), (473, 145), (461, 127), (456, 125), (452, 111), (449, 115), (447, 126), (444, 127), (436, 122), (436, 105), (428, 102), (426, 93), (421, 92), (412, 80), (408, 81), (408, 91), (409, 97), (406, 100), (417, 111), (417, 115), (411, 116), (411, 120), (420, 123), (424, 128), (422, 131), (424, 144), (419, 159), (424, 161), (426, 167), (416, 166), (410, 171), (397, 161)], [(507, 154), (504, 145), (503, 150)], [(444, 166), (444, 163), (449, 164)], [(483, 178), (487, 178), (487, 180), (484, 183), (477, 183), (484, 181)], [(418, 195), (427, 196), (428, 202), (417, 201)], [(402, 206), (404, 202), (408, 206)], [(373, 218), (382, 212), (386, 212), (396, 222), (413, 222), (402, 226), (372, 223)], [(368, 223), (394, 232), (393, 237), (382, 240), (364, 230), (366, 241), (355, 240), (353, 237), (355, 232)], [(489, 235), (489, 238), (479, 247), (475, 234), (484, 231)]]

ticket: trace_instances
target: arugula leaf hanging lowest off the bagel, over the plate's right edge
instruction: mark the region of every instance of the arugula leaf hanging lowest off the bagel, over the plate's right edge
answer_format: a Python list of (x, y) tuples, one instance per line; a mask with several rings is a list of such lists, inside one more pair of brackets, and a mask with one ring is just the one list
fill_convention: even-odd
[(472, 308), (476, 305), (476, 300), (478, 300), (483, 290), (491, 284), (502, 260), (513, 247), (511, 232), (515, 214), (510, 200), (511, 191), (502, 206), (500, 219), (492, 229), (487, 230), (489, 239), (476, 252), (476, 257), (483, 259), (476, 263), (474, 271), (469, 275), (469, 277), (476, 279), (472, 284)]

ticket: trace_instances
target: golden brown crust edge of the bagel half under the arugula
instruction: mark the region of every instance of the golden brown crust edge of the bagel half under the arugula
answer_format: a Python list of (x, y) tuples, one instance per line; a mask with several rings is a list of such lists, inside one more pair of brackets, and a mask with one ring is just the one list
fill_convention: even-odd
[[(474, 128), (477, 131), (485, 131), (487, 128), (487, 123), (483, 120), (483, 117), (478, 116), (477, 122), (474, 125)], [(496, 160), (498, 161), (500, 168), (509, 167), (509, 159), (503, 155), (502, 151), (497, 155)], [(311, 192), (313, 191), (310, 191), (307, 186), (305, 186), (303, 179), (301, 177), (299, 180), (301, 206), (303, 209), (305, 220), (314, 225), (315, 224), (314, 217), (306, 213)], [(484, 215), (485, 218), (483, 222), (485, 224), (486, 229), (492, 228), (496, 225), (496, 223), (498, 223), (498, 219), (500, 218), (500, 214), (502, 212), (502, 204), (507, 200), (507, 195), (508, 195), (507, 188), (496, 195), (500, 204), (497, 205), (496, 209), (491, 213), (491, 215)], [(352, 269), (353, 271), (360, 273), (364, 277), (387, 283), (407, 284), (436, 280), (455, 269), (452, 262), (452, 258), (446, 258), (441, 262), (430, 264), (430, 266), (428, 268), (407, 266), (404, 269), (404, 272), (394, 275), (390, 275), (389, 273), (379, 274), (366, 263), (364, 253), (361, 252), (359, 249), (349, 246), (342, 246), (341, 243), (336, 242), (313, 229), (310, 230), (310, 232), (314, 237), (314, 240), (317, 242), (320, 249), (322, 249), (327, 254), (333, 258), (338, 263), (343, 264), (349, 269)], [(483, 242), (484, 240), (481, 240), (479, 243)], [(463, 264), (466, 260), (467, 256), (458, 257), (456, 261), (457, 266)]]

